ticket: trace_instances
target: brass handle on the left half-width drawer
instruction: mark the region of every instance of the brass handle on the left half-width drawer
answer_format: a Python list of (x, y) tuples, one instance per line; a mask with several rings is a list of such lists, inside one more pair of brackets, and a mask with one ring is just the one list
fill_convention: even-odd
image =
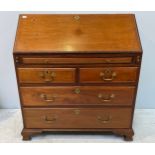
[(56, 77), (56, 73), (53, 71), (43, 71), (39, 73), (39, 76), (45, 81), (45, 82), (52, 82), (54, 81), (54, 78)]

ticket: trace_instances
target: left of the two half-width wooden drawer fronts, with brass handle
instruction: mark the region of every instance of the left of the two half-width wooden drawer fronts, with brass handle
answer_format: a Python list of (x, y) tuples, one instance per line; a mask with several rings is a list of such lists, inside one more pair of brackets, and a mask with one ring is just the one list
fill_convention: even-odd
[(73, 83), (74, 68), (18, 68), (20, 83)]

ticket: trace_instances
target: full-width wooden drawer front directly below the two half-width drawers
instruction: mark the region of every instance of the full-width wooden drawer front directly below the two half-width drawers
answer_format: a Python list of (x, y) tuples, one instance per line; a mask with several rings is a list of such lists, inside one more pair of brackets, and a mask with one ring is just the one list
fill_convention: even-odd
[(132, 105), (134, 87), (21, 87), (24, 106)]

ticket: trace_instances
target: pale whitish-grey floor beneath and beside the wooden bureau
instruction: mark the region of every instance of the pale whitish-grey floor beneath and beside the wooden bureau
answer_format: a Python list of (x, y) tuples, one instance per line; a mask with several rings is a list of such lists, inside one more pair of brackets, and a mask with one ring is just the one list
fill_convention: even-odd
[[(133, 142), (155, 142), (155, 109), (137, 109), (135, 111), (133, 128), (135, 132)], [(22, 141), (22, 118), (19, 109), (0, 109), (0, 142)], [(28, 142), (47, 143), (102, 143), (124, 142), (122, 137), (115, 135), (80, 135), (80, 134), (42, 134)]]

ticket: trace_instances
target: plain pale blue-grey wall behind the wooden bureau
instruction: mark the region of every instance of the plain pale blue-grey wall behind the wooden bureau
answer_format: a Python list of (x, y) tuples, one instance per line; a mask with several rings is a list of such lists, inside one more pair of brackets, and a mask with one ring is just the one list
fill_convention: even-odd
[[(21, 13), (78, 12), (0, 12), (0, 108), (20, 108), (12, 50)], [(136, 108), (155, 108), (155, 12), (80, 12), (135, 13), (143, 47), (143, 60)]]

